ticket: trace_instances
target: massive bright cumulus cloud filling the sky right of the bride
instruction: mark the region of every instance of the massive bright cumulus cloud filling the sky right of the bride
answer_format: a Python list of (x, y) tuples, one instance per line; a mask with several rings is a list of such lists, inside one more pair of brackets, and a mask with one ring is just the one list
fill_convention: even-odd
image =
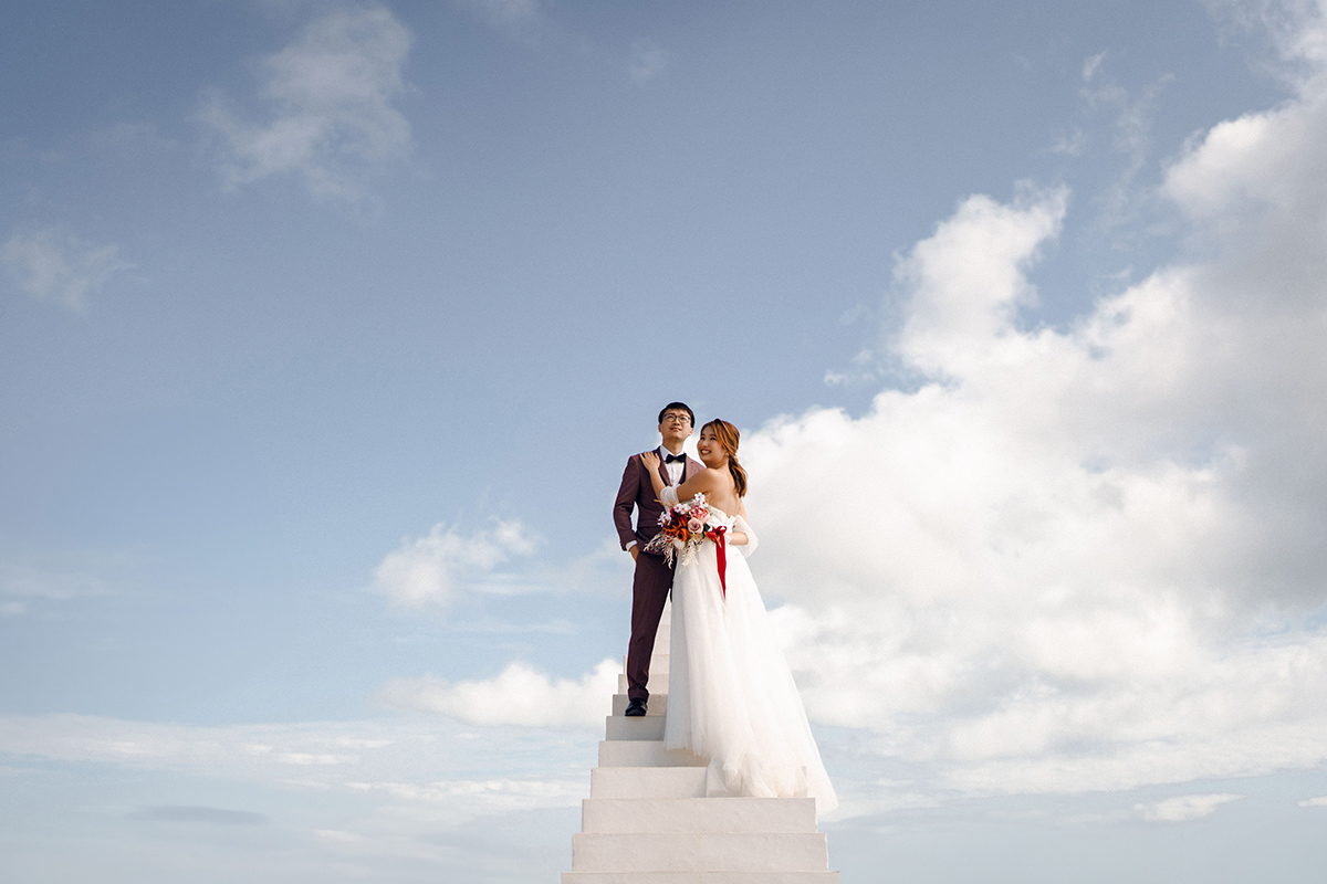
[(1066, 329), (1027, 322), (1062, 190), (898, 257), (914, 383), (743, 440), (815, 720), (970, 793), (1327, 761), (1324, 167), (1319, 66), (1172, 163), (1190, 257)]

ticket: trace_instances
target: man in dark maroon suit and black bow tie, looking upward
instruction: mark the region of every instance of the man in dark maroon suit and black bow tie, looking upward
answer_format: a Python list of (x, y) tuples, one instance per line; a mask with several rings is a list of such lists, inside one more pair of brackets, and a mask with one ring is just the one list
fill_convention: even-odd
[[(681, 402), (671, 402), (660, 412), (660, 436), (664, 444), (656, 451), (660, 456), (660, 476), (665, 485), (681, 485), (691, 476), (705, 469), (705, 464), (682, 453), (682, 443), (691, 435), (695, 415)], [(632, 509), (637, 510), (636, 530), (632, 530)], [(645, 714), (650, 692), (645, 684), (650, 680), (650, 655), (654, 652), (654, 635), (660, 628), (664, 603), (673, 588), (673, 569), (658, 553), (646, 553), (645, 545), (660, 533), (660, 516), (664, 505), (654, 497), (654, 484), (640, 455), (632, 455), (622, 472), (622, 486), (617, 489), (613, 504), (613, 524), (622, 549), (636, 561), (636, 578), (632, 582), (632, 641), (626, 645), (626, 714)]]

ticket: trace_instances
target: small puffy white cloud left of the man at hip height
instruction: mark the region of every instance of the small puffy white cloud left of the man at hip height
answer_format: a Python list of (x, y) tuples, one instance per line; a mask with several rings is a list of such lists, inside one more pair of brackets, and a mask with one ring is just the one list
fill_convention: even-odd
[(496, 586), (495, 569), (529, 555), (535, 542), (519, 521), (496, 522), (492, 530), (463, 537), (441, 522), (427, 535), (405, 538), (374, 571), (373, 588), (397, 604), (446, 604), (466, 586)]

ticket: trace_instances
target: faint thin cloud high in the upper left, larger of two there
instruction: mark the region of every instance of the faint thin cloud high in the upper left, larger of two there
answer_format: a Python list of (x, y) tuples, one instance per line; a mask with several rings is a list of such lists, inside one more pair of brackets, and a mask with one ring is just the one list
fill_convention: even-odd
[(293, 174), (317, 199), (364, 199), (369, 179), (410, 150), (410, 123), (394, 106), (410, 42), (387, 9), (333, 12), (259, 62), (267, 122), (208, 94), (200, 118), (220, 135), (226, 186)]

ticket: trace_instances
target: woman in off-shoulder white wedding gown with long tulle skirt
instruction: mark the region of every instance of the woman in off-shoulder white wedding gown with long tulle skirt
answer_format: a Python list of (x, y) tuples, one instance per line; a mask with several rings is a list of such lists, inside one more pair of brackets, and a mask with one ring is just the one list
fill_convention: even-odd
[(641, 455), (665, 506), (705, 494), (710, 510), (719, 510), (727, 526), (727, 545), (742, 551), (723, 557), (722, 580), (721, 557), (711, 541), (701, 543), (697, 555), (678, 561), (664, 746), (710, 759), (707, 795), (809, 795), (824, 814), (839, 799), (746, 563), (756, 537), (742, 502), (747, 477), (736, 460), (738, 440), (736, 427), (727, 421), (705, 424), (697, 452), (707, 469), (678, 488), (665, 486), (658, 455)]

